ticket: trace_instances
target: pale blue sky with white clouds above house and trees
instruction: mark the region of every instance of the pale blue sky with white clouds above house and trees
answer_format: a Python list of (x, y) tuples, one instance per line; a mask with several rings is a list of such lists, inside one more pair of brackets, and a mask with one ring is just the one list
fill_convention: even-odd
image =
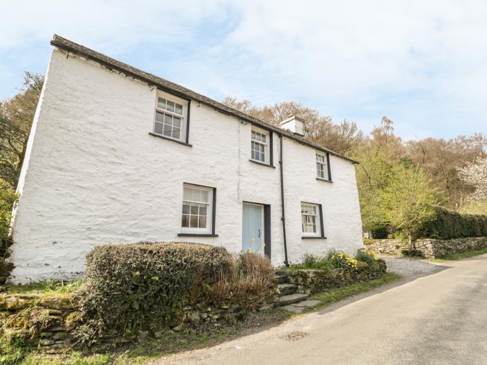
[(54, 33), (221, 101), (295, 100), (369, 133), (487, 134), (487, 1), (0, 0), (0, 100)]

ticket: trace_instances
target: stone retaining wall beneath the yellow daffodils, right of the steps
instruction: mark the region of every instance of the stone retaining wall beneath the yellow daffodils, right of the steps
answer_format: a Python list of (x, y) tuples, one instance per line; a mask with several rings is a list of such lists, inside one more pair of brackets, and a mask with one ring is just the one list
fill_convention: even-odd
[(325, 289), (340, 288), (341, 286), (366, 282), (380, 277), (385, 273), (385, 261), (378, 259), (377, 266), (371, 267), (367, 263), (358, 261), (358, 270), (335, 268), (332, 270), (319, 269), (283, 269), (278, 275), (286, 275), (289, 284), (298, 284), (297, 293), (319, 293)]

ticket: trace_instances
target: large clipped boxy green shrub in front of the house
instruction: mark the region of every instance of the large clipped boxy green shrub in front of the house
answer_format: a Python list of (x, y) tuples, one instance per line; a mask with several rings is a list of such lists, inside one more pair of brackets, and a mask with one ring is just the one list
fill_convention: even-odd
[(79, 335), (91, 341), (106, 330), (131, 334), (176, 325), (182, 307), (199, 300), (233, 265), (227, 250), (209, 245), (97, 246), (86, 257)]

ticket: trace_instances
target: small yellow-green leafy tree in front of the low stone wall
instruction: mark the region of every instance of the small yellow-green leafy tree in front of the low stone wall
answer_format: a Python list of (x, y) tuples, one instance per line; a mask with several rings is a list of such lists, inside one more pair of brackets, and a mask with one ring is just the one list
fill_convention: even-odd
[(398, 164), (379, 198), (386, 222), (407, 234), (409, 254), (413, 252), (413, 239), (436, 214), (436, 188), (431, 188), (430, 182), (419, 166), (406, 168)]

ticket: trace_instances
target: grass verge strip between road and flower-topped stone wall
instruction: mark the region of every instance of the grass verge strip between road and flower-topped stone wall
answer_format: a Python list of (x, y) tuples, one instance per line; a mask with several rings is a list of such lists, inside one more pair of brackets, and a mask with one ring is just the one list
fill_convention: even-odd
[(329, 289), (322, 293), (313, 295), (310, 299), (319, 300), (321, 302), (319, 305), (317, 305), (314, 308), (326, 307), (327, 305), (331, 305), (335, 302), (339, 302), (340, 300), (349, 298), (352, 295), (356, 295), (358, 293), (365, 293), (365, 291), (376, 289), (379, 286), (388, 284), (390, 282), (394, 282), (400, 278), (401, 275), (395, 273), (385, 273), (381, 277), (370, 280), (369, 282), (351, 284), (347, 286), (342, 286), (341, 288), (337, 288), (337, 289)]

